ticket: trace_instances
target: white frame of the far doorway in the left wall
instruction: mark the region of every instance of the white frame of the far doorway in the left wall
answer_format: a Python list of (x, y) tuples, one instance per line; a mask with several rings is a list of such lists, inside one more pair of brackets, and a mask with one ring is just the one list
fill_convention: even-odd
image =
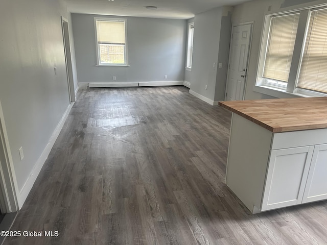
[(69, 103), (72, 103), (72, 102), (76, 102), (76, 96), (75, 96), (75, 90), (74, 90), (71, 41), (69, 39), (68, 20), (66, 18), (64, 18), (63, 16), (61, 16), (61, 29), (62, 29), (63, 47), (64, 47), (64, 52), (65, 52)]

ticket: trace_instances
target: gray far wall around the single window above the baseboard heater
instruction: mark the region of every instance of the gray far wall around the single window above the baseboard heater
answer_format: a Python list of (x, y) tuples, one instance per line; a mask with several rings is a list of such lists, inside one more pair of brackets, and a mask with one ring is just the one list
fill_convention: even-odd
[(72, 14), (79, 83), (184, 79), (186, 20), (124, 17), (130, 66), (114, 67), (96, 66), (94, 17), (100, 16)]

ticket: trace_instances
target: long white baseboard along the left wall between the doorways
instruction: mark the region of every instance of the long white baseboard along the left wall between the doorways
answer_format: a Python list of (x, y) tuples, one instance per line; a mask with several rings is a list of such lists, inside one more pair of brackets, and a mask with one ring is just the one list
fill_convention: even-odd
[(58, 138), (59, 133), (60, 133), (60, 131), (61, 131), (63, 125), (64, 125), (64, 122), (66, 121), (66, 119), (68, 117), (69, 111), (71, 111), (73, 105), (74, 105), (74, 102), (72, 102), (67, 107), (65, 113), (63, 114), (62, 118), (59, 121), (59, 124), (57, 125), (55, 131), (51, 135), (48, 144), (45, 146), (41, 156), (39, 157), (39, 159), (35, 163), (30, 176), (28, 177), (28, 179), (25, 182), (24, 186), (21, 188), (21, 191), (19, 192), (19, 196), (17, 197), (19, 209), (21, 209), (22, 205), (24, 204), (25, 200), (27, 199), (27, 196), (30, 193), (37, 176), (39, 175), (45, 160), (48, 158), (49, 153), (50, 153), (51, 149), (53, 148), (53, 145), (55, 144), (55, 141)]

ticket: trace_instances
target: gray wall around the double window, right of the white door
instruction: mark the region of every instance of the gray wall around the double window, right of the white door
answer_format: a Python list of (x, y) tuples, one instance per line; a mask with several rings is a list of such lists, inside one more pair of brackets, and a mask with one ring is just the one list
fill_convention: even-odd
[[(326, 1), (312, 0), (255, 0), (235, 6), (232, 14), (233, 24), (254, 21), (252, 33), (252, 45), (249, 56), (247, 73), (247, 84), (245, 88), (245, 100), (270, 99), (269, 95), (254, 92), (253, 86), (256, 81), (258, 62), (260, 56), (260, 45), (262, 39), (262, 28), (265, 15), (271, 12), (289, 11), (300, 7), (314, 6), (326, 3)], [(269, 11), (268, 11), (269, 9)]]

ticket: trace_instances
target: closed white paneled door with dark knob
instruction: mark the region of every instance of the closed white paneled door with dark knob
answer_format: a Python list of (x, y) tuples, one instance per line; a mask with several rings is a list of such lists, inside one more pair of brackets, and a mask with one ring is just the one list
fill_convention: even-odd
[(226, 101), (239, 101), (244, 98), (251, 32), (252, 24), (233, 26), (226, 84)]

